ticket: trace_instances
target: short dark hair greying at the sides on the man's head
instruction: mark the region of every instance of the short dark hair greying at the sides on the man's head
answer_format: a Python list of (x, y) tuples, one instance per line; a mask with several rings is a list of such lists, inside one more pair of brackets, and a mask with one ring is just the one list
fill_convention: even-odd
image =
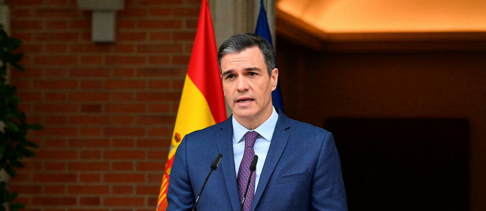
[(267, 64), (268, 75), (272, 75), (272, 70), (275, 68), (275, 52), (270, 43), (260, 35), (245, 33), (236, 34), (228, 38), (219, 46), (218, 51), (218, 64), (219, 71), (221, 70), (221, 58), (228, 53), (241, 53), (245, 49), (258, 46), (260, 52), (262, 52)]

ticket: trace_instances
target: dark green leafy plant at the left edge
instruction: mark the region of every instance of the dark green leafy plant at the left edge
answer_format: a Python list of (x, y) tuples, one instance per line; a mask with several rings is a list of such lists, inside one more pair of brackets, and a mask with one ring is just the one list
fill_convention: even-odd
[(17, 211), (25, 206), (12, 203), (18, 193), (7, 190), (9, 177), (16, 176), (16, 168), (23, 167), (24, 157), (33, 157), (37, 145), (27, 141), (29, 129), (40, 130), (41, 125), (27, 124), (25, 113), (18, 110), (20, 98), (15, 95), (16, 87), (7, 84), (7, 67), (24, 71), (18, 63), (21, 53), (15, 53), (21, 45), (20, 40), (7, 35), (0, 24), (0, 211)]

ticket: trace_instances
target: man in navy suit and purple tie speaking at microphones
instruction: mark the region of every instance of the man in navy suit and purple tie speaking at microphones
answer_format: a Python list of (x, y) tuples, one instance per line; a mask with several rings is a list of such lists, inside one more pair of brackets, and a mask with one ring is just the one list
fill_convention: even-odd
[[(245, 211), (346, 211), (332, 134), (272, 106), (278, 69), (270, 44), (255, 34), (234, 35), (220, 46), (218, 62), (233, 115), (184, 137), (171, 170), (167, 210), (193, 207), (209, 165), (221, 153), (198, 211), (239, 211), (250, 176)], [(250, 174), (254, 155), (258, 162)]]

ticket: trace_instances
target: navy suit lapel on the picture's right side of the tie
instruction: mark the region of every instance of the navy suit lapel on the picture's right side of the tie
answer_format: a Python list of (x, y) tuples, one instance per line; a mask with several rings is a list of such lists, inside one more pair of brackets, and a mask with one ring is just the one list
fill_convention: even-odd
[[(280, 110), (278, 110), (280, 111)], [(275, 166), (277, 165), (280, 156), (287, 145), (288, 133), (285, 129), (288, 128), (287, 117), (283, 112), (279, 112), (277, 125), (275, 126), (274, 136), (270, 143), (270, 148), (267, 153), (267, 158), (263, 165), (262, 173), (260, 174), (260, 181), (258, 182), (257, 191), (253, 197), (253, 205), (251, 210), (255, 210), (260, 198), (262, 197), (265, 187), (274, 172)]]

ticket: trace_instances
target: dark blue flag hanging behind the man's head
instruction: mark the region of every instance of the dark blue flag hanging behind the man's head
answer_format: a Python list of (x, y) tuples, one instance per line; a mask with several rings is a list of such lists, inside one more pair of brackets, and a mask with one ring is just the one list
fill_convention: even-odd
[[(257, 28), (255, 29), (255, 34), (264, 37), (270, 43), (270, 45), (273, 45), (272, 34), (270, 33), (270, 28), (268, 26), (267, 12), (265, 11), (263, 0), (260, 0), (260, 13), (258, 14)], [(277, 88), (272, 92), (272, 103), (275, 107), (278, 107), (283, 112), (283, 100), (282, 93), (280, 92), (279, 81), (277, 83)]]

